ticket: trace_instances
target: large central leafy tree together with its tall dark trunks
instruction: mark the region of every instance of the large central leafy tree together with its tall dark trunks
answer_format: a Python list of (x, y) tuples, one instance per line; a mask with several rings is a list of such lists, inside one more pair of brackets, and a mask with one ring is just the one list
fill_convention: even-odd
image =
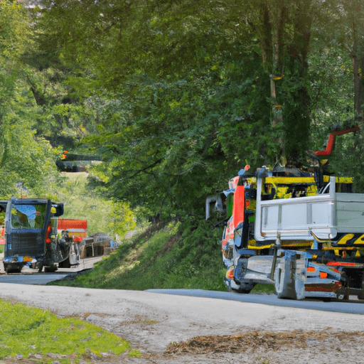
[(95, 179), (154, 213), (201, 213), (247, 163), (302, 164), (323, 95), (322, 114), (336, 107), (310, 48), (326, 1), (47, 4), (42, 47), (73, 70), (68, 87), (95, 116), (85, 141), (108, 161)]

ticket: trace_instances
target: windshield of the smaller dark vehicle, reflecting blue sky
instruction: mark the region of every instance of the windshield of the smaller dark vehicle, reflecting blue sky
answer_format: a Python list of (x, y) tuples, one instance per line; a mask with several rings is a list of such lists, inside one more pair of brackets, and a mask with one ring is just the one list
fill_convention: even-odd
[(46, 205), (13, 205), (11, 226), (17, 229), (43, 228)]

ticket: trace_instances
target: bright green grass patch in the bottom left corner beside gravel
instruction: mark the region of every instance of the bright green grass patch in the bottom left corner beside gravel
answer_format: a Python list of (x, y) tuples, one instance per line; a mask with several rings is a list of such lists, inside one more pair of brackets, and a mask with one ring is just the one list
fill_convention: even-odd
[(115, 356), (127, 351), (138, 356), (124, 339), (80, 319), (59, 319), (50, 311), (3, 300), (0, 316), (0, 359), (37, 354), (44, 355), (42, 363), (47, 363), (46, 355), (52, 353), (60, 363), (70, 363), (70, 358), (78, 363), (105, 353)]

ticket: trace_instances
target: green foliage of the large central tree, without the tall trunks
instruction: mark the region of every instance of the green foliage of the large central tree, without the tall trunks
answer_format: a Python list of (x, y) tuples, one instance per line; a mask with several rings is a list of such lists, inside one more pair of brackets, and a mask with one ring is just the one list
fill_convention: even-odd
[(84, 141), (105, 156), (94, 176), (107, 196), (166, 217), (200, 214), (246, 160), (279, 160), (257, 38), (239, 20), (244, 9), (225, 6), (63, 1), (43, 10), (40, 28), (63, 27), (42, 47), (58, 38), (63, 64), (77, 63), (68, 85), (96, 115)]

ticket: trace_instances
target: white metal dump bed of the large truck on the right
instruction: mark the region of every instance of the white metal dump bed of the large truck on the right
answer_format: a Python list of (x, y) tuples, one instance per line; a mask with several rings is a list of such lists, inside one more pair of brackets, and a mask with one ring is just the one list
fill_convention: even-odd
[[(333, 178), (334, 186), (335, 179)], [(256, 240), (334, 239), (338, 232), (364, 233), (364, 194), (330, 193), (260, 200), (257, 198)]]

